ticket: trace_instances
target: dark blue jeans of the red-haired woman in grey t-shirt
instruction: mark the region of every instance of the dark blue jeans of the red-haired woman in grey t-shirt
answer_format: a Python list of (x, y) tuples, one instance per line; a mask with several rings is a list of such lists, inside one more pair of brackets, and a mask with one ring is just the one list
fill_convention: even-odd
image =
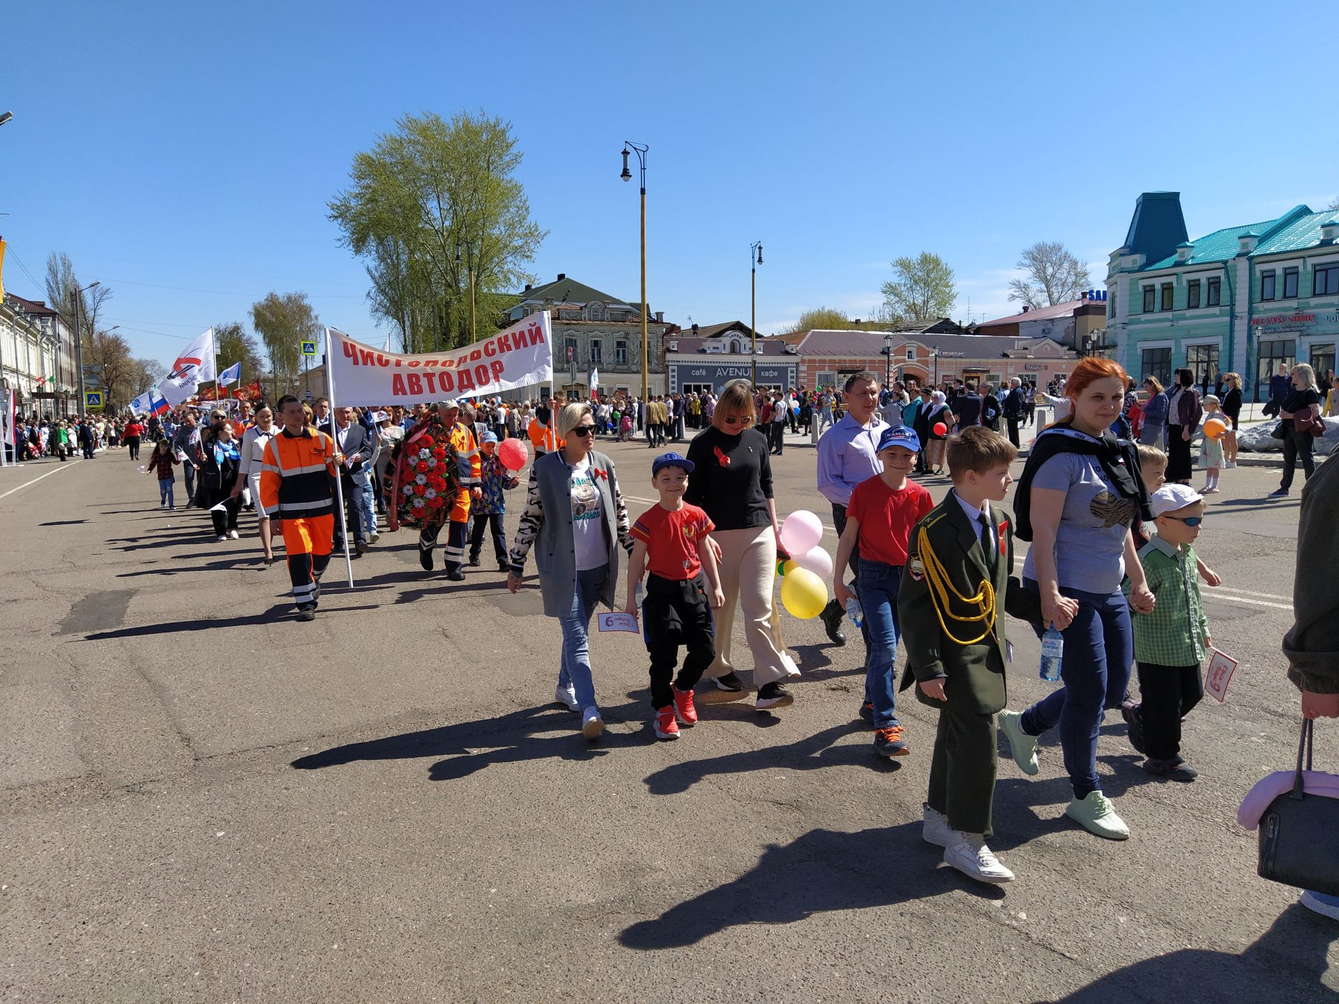
[[(1028, 581), (1030, 588), (1036, 584)], [(1060, 586), (1060, 594), (1079, 601), (1079, 612), (1065, 629), (1065, 685), (1023, 712), (1023, 731), (1042, 735), (1059, 726), (1065, 770), (1075, 798), (1099, 791), (1097, 779), (1097, 735), (1103, 708), (1121, 707), (1130, 683), (1134, 636), (1130, 608), (1117, 590), (1102, 596)]]

